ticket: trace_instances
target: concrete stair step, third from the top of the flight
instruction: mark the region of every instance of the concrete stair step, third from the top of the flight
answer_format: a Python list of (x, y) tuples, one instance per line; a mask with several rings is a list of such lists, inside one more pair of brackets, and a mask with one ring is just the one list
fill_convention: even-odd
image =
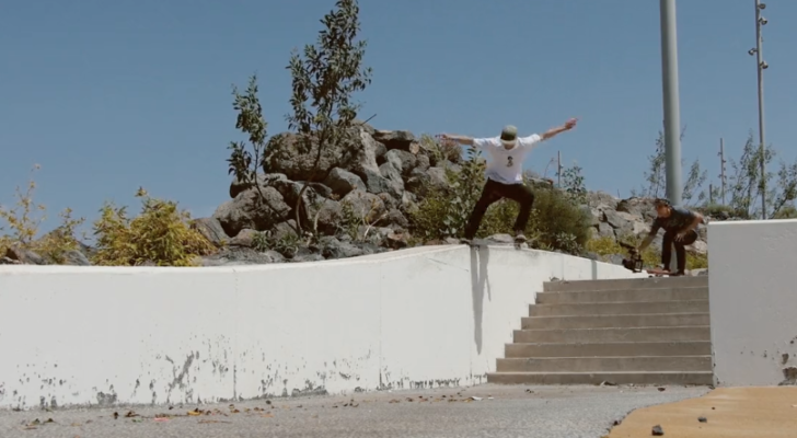
[(708, 300), (529, 304), (530, 316), (705, 312), (708, 312)]

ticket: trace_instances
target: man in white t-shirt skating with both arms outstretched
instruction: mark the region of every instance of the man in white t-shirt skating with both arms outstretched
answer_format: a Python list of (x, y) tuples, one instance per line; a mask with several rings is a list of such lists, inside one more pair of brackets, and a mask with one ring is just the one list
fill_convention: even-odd
[(515, 241), (516, 243), (525, 242), (523, 232), (534, 204), (534, 193), (523, 183), (523, 160), (539, 142), (573, 129), (577, 122), (577, 119), (570, 118), (562, 126), (548, 129), (542, 135), (532, 134), (529, 137), (518, 137), (518, 128), (512, 125), (504, 127), (500, 137), (472, 138), (446, 134), (441, 136), (444, 140), (457, 141), (460, 145), (473, 145), (492, 159), (488, 160), (485, 172), (487, 183), (473, 207), (462, 243), (471, 244), (487, 207), (501, 198), (509, 198), (520, 204), (520, 211), (515, 221)]

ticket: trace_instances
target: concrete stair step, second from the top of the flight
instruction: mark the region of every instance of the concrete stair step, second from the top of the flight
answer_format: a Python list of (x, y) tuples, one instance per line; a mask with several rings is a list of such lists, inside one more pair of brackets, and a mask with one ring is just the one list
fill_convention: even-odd
[(648, 302), (707, 300), (706, 287), (673, 287), (643, 290), (593, 290), (587, 292), (538, 292), (538, 304), (587, 302)]

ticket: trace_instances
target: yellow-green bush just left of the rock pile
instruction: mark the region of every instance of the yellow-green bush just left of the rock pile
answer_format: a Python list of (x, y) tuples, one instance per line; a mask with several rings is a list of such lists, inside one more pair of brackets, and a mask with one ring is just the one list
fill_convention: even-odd
[(106, 266), (193, 266), (195, 257), (215, 251), (198, 231), (192, 230), (186, 211), (171, 200), (151, 198), (139, 189), (141, 212), (128, 218), (126, 207), (105, 203), (94, 222), (96, 253), (93, 262)]

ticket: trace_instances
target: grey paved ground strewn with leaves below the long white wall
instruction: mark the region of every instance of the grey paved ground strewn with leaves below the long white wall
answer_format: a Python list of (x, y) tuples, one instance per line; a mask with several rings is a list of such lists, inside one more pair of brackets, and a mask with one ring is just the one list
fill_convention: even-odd
[(485, 384), (234, 405), (0, 411), (0, 437), (599, 438), (635, 408), (706, 392), (684, 387)]

